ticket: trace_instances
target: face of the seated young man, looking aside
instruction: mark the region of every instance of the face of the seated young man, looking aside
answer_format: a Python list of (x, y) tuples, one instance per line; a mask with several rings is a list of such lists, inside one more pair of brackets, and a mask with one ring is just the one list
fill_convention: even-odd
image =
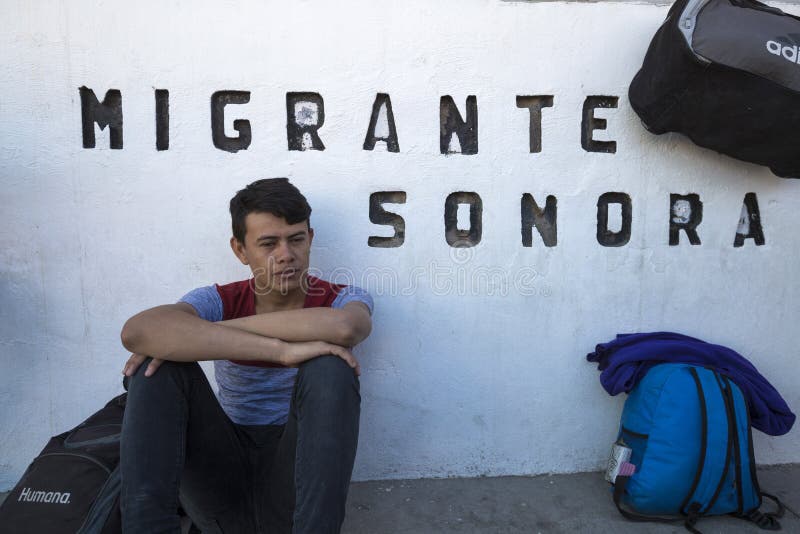
[(287, 294), (301, 287), (308, 270), (314, 231), (308, 222), (288, 224), (271, 213), (250, 213), (245, 218), (244, 243), (231, 238), (239, 260), (250, 266), (258, 294)]

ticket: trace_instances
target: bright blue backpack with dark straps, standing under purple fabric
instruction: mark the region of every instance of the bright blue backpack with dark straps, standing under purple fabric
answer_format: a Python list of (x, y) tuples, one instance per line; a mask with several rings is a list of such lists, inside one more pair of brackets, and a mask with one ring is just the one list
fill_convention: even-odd
[[(684, 521), (698, 532), (701, 516), (734, 514), (780, 529), (783, 505), (758, 486), (747, 403), (728, 377), (688, 364), (653, 367), (625, 402), (618, 438), (635, 466), (614, 483), (614, 502), (626, 518)], [(762, 496), (778, 511), (760, 512)]]

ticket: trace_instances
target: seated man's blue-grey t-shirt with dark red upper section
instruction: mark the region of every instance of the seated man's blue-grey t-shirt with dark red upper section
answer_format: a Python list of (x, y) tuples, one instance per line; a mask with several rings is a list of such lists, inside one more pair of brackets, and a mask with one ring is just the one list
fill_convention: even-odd
[[(200, 318), (223, 321), (255, 314), (252, 280), (226, 285), (199, 287), (180, 302), (190, 304)], [(349, 302), (362, 302), (372, 313), (372, 297), (356, 286), (331, 284), (309, 276), (304, 307), (342, 308)], [(276, 367), (266, 362), (215, 360), (222, 409), (240, 425), (282, 425), (289, 415), (297, 369)]]

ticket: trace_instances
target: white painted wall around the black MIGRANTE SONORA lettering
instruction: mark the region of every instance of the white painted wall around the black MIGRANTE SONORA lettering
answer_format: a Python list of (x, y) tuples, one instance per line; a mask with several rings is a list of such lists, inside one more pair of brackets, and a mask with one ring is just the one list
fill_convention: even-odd
[[(640, 126), (627, 87), (665, 6), (3, 0), (2, 10), (0, 490), (48, 436), (121, 390), (126, 318), (247, 276), (228, 248), (227, 202), (266, 176), (306, 192), (313, 265), (349, 268), (375, 295), (374, 332), (357, 349), (358, 479), (600, 469), (623, 398), (601, 389), (584, 356), (617, 332), (733, 347), (800, 407), (800, 182)], [(123, 150), (108, 149), (108, 130), (82, 148), (82, 85), (101, 99), (122, 92)], [(166, 152), (155, 150), (154, 88), (170, 91)], [(247, 150), (212, 144), (218, 90), (251, 91), (226, 114), (251, 121)], [(301, 91), (324, 98), (325, 151), (287, 150), (285, 95)], [(362, 149), (378, 92), (391, 95), (397, 154)], [(538, 94), (554, 105), (542, 112), (542, 152), (529, 154), (515, 98)], [(442, 95), (462, 113), (476, 95), (477, 155), (439, 153)], [(614, 155), (581, 148), (587, 95), (620, 97), (597, 112), (609, 128), (595, 137), (616, 140)], [(391, 235), (369, 222), (375, 191), (407, 192), (386, 206), (405, 217), (401, 248), (367, 246)], [(445, 241), (454, 191), (483, 199), (473, 249)], [(621, 248), (595, 239), (608, 191), (633, 201)], [(766, 245), (735, 249), (751, 191)], [(558, 197), (557, 247), (536, 232), (522, 247), (525, 192), (541, 206)], [(702, 246), (685, 235), (668, 246), (670, 193), (700, 195)], [(800, 461), (797, 429), (756, 432), (755, 447), (763, 463)]]

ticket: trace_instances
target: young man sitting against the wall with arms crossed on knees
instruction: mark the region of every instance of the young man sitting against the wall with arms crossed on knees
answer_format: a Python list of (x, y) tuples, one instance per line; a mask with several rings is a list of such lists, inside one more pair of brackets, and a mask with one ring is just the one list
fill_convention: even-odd
[[(125, 532), (339, 532), (358, 441), (372, 299), (307, 274), (311, 208), (286, 178), (231, 199), (253, 278), (130, 318), (122, 430)], [(215, 360), (215, 397), (196, 363)]]

